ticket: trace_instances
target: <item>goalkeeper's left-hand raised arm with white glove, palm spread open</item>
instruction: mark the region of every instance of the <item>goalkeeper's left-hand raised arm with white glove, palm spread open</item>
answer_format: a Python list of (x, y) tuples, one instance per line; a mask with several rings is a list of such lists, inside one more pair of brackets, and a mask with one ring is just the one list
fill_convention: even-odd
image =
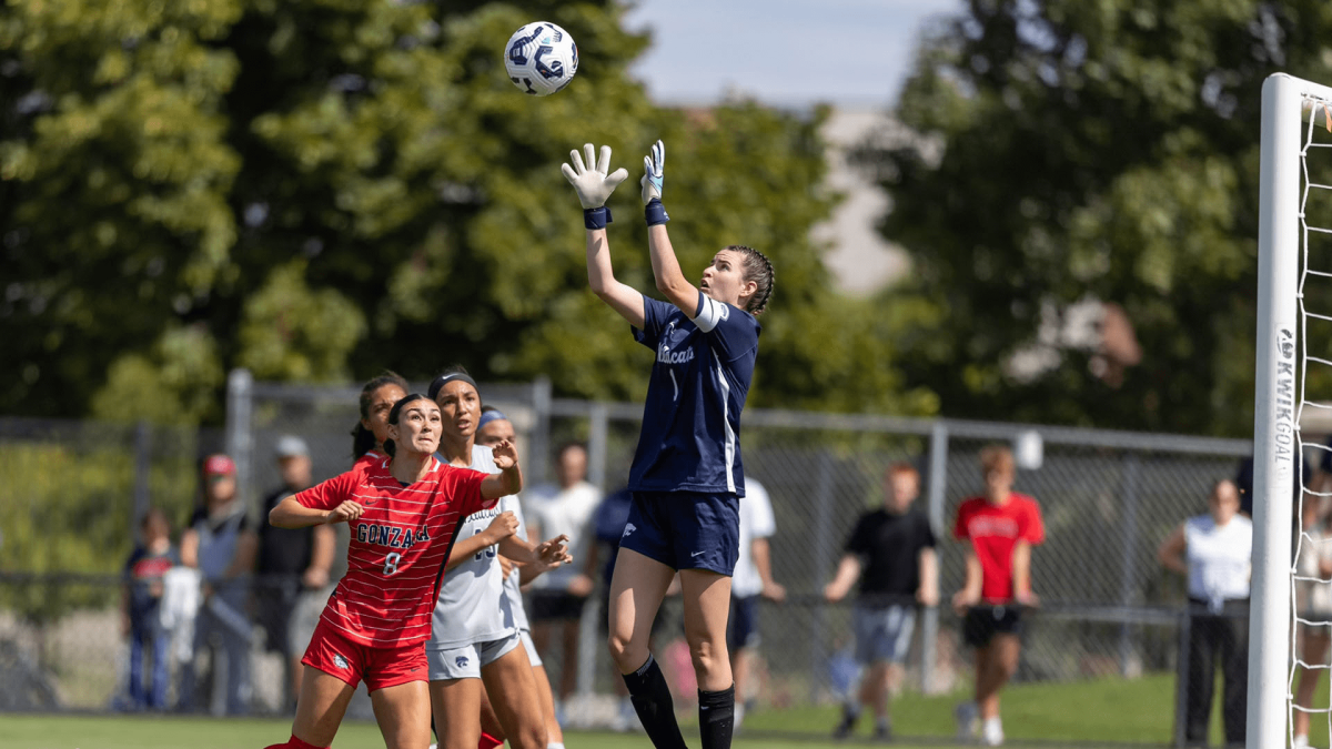
[(561, 172), (569, 184), (574, 185), (578, 203), (583, 207), (583, 225), (587, 228), (587, 285), (591, 287), (598, 299), (610, 305), (630, 325), (641, 328), (643, 325), (643, 295), (615, 280), (615, 272), (610, 264), (610, 244), (606, 239), (606, 224), (611, 221), (606, 200), (619, 183), (625, 181), (629, 172), (621, 168), (607, 173), (610, 169), (609, 145), (601, 147), (599, 160), (593, 144), (585, 144), (583, 152), (587, 155), (586, 164), (583, 164), (578, 151), (570, 151), (569, 161), (573, 165), (561, 165)]

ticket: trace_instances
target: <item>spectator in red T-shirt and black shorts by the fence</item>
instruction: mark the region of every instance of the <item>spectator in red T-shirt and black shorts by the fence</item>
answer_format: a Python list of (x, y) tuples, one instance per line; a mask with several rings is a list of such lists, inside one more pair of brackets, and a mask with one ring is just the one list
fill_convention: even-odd
[(1012, 452), (980, 450), (986, 493), (958, 508), (954, 536), (970, 541), (967, 580), (952, 597), (963, 617), (963, 637), (976, 649), (976, 698), (958, 705), (958, 736), (970, 740), (980, 718), (980, 744), (1003, 744), (999, 690), (1018, 670), (1022, 609), (1036, 605), (1031, 592), (1031, 548), (1046, 540), (1036, 500), (1012, 490)]

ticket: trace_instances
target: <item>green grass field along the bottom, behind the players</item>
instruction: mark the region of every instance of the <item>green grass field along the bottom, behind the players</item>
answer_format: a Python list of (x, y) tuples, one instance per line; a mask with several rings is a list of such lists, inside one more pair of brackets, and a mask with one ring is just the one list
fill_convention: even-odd
[[(1173, 724), (1175, 680), (1154, 674), (1138, 680), (1076, 684), (1016, 685), (1004, 693), (1004, 730), (1011, 745), (1095, 746), (1106, 744), (1166, 745)], [(1220, 692), (1220, 690), (1217, 690)], [(951, 746), (952, 708), (959, 696), (904, 694), (894, 704), (898, 749)], [(1327, 705), (1327, 684), (1317, 702)], [(1213, 709), (1212, 742), (1220, 740), (1219, 709)], [(832, 706), (763, 710), (745, 718), (735, 749), (823, 749), (846, 746), (825, 738), (836, 722)], [(1315, 746), (1327, 745), (1327, 729), (1313, 721)], [(862, 718), (862, 741), (870, 720)], [(5, 749), (261, 749), (286, 738), (286, 720), (210, 720), (143, 716), (0, 716), (0, 746)], [(686, 726), (686, 733), (689, 728)], [(805, 734), (795, 736), (795, 734)], [(575, 733), (569, 749), (649, 749), (642, 734)], [(698, 745), (697, 737), (691, 740)], [(337, 749), (381, 749), (378, 728), (348, 722)]]

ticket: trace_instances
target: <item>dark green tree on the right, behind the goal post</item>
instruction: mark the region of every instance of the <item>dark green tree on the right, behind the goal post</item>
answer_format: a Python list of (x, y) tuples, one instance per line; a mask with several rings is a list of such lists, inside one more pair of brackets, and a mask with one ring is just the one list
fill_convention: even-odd
[[(887, 237), (947, 325), (908, 382), (951, 416), (1252, 433), (1263, 79), (1332, 79), (1321, 3), (971, 0), (919, 51), (864, 148)], [(1058, 352), (1006, 369), (1043, 311), (1118, 303), (1144, 351), (1122, 386)]]

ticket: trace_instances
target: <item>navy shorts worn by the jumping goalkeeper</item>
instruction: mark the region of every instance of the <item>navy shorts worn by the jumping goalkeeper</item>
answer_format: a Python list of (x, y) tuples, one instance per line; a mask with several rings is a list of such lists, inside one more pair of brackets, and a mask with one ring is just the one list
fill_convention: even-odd
[(621, 549), (633, 549), (671, 569), (706, 569), (730, 577), (741, 545), (741, 502), (735, 494), (634, 492)]

